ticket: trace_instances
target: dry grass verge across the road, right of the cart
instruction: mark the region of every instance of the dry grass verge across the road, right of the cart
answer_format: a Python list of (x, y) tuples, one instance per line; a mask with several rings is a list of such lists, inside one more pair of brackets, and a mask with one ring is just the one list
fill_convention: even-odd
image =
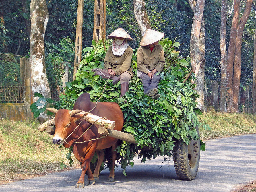
[(202, 140), (256, 133), (256, 116), (251, 114), (207, 113), (200, 118), (210, 130), (199, 128)]

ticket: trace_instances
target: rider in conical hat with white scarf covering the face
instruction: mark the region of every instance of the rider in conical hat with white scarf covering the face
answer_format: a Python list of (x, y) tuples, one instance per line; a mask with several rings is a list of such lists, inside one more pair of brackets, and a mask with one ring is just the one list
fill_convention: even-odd
[(120, 80), (120, 97), (122, 97), (127, 92), (129, 81), (133, 76), (131, 69), (133, 49), (127, 42), (133, 39), (122, 28), (118, 28), (107, 38), (113, 39), (113, 41), (106, 52), (104, 69), (92, 69), (92, 71), (95, 71), (95, 75), (100, 75), (103, 78), (109, 78), (111, 75), (110, 79), (113, 80), (113, 84), (117, 84)]

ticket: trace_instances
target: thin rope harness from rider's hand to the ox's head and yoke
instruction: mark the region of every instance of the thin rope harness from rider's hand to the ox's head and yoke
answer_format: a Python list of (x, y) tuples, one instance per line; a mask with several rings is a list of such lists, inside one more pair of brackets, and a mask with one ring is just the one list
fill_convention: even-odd
[[(108, 80), (109, 80), (110, 77), (111, 77), (111, 75), (108, 77)], [(96, 104), (95, 104), (94, 108), (92, 108), (92, 110), (94, 110), (94, 109), (96, 108), (96, 105), (97, 105), (98, 101), (102, 98), (103, 93), (104, 93), (105, 88), (106, 88), (106, 85), (107, 85), (107, 83), (108, 83), (108, 80), (107, 80), (107, 82), (106, 82), (106, 84), (105, 84), (105, 86), (104, 86), (104, 89), (103, 89), (103, 91), (102, 91), (102, 94), (101, 94), (100, 98), (96, 101)], [(88, 113), (90, 113), (92, 110), (90, 110)], [(102, 123), (103, 119), (107, 119), (107, 118), (106, 118), (106, 117), (101, 117), (101, 118), (97, 119), (96, 121), (94, 121), (94, 122), (84, 131), (84, 133), (85, 133), (86, 131), (88, 131), (88, 130), (90, 129), (90, 127), (91, 127), (92, 125), (94, 125), (94, 124), (95, 124), (98, 120), (100, 120), (100, 119), (101, 119), (101, 122), (100, 122), (99, 128), (100, 128), (100, 126), (101, 126), (101, 123)], [(83, 120), (80, 121), (80, 123), (77, 125), (77, 127), (82, 123), (82, 121), (83, 121)], [(58, 143), (61, 143), (62, 141), (64, 141), (64, 142), (66, 142), (67, 144), (69, 144), (69, 143), (66, 141), (66, 139), (69, 138), (70, 135), (72, 135), (72, 133), (74, 133), (74, 131), (77, 129), (77, 127), (69, 134), (69, 136), (67, 136), (65, 139), (59, 141)], [(77, 138), (77, 139), (75, 140), (75, 141), (77, 141), (77, 142), (74, 142), (74, 143), (85, 143), (85, 142), (88, 142), (88, 141), (93, 141), (93, 140), (105, 138), (105, 137), (107, 137), (107, 136), (109, 135), (109, 131), (110, 131), (110, 130), (108, 129), (108, 134), (105, 135), (104, 137), (98, 137), (98, 138), (90, 139), (90, 140), (87, 140), (87, 141), (77, 141), (78, 139), (80, 139), (80, 138), (84, 135), (84, 133), (83, 133), (79, 138)], [(56, 144), (58, 144), (58, 143), (56, 143)]]

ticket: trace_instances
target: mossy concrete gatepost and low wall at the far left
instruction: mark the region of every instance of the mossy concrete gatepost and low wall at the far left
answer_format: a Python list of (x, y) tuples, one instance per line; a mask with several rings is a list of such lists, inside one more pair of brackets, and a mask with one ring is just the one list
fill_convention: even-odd
[(8, 118), (13, 121), (27, 121), (33, 118), (29, 106), (31, 103), (31, 71), (30, 59), (20, 59), (20, 79), (25, 86), (23, 93), (24, 103), (0, 103), (0, 118)]

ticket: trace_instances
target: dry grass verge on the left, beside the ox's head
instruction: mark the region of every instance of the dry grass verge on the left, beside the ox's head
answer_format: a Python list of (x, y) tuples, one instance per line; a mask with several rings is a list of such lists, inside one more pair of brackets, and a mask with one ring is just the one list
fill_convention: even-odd
[(53, 145), (51, 137), (40, 133), (37, 126), (32, 121), (0, 120), (0, 183), (59, 171), (61, 160), (68, 164), (68, 151)]

